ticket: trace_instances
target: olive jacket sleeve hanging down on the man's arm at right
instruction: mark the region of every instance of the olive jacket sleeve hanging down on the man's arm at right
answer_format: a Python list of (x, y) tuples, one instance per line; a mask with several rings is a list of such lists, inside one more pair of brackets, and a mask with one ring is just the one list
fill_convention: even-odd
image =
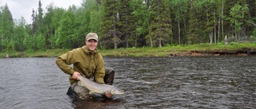
[(105, 64), (103, 57), (100, 56), (98, 59), (98, 64), (96, 66), (96, 72), (95, 72), (95, 82), (99, 84), (105, 84), (104, 83), (104, 76), (105, 76)]

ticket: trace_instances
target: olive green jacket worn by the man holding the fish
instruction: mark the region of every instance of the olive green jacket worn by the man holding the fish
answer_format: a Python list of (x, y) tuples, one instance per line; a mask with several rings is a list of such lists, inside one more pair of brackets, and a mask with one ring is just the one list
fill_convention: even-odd
[[(58, 56), (56, 64), (63, 72), (70, 75), (70, 84), (78, 82), (78, 80), (71, 78), (75, 71), (80, 72), (89, 79), (94, 77), (94, 81), (99, 84), (105, 84), (105, 64), (102, 55), (98, 53), (97, 49), (90, 51), (87, 46), (73, 49)], [(70, 64), (73, 64), (73, 68), (70, 67)]]

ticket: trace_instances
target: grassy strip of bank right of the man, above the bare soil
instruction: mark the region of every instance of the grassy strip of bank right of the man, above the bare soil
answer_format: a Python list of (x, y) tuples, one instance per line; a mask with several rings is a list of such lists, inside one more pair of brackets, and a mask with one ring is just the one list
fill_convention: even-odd
[(128, 49), (102, 49), (102, 56), (169, 56), (174, 53), (186, 53), (190, 51), (210, 52), (215, 50), (237, 50), (243, 48), (256, 49), (256, 43), (230, 43), (198, 44), (198, 45), (176, 45), (161, 48), (128, 48)]

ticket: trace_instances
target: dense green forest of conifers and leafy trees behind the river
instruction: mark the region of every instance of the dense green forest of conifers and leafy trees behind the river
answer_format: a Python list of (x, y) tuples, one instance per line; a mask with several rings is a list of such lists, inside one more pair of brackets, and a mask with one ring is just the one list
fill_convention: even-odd
[(99, 49), (256, 41), (255, 0), (83, 0), (68, 9), (39, 0), (31, 19), (0, 6), (1, 53), (74, 49), (90, 32)]

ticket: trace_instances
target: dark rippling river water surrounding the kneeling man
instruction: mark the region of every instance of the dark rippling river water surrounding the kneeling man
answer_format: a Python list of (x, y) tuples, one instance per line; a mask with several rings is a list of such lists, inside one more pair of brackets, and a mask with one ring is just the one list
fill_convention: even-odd
[(55, 58), (0, 59), (0, 108), (256, 108), (256, 56), (105, 57), (115, 99), (72, 99)]

